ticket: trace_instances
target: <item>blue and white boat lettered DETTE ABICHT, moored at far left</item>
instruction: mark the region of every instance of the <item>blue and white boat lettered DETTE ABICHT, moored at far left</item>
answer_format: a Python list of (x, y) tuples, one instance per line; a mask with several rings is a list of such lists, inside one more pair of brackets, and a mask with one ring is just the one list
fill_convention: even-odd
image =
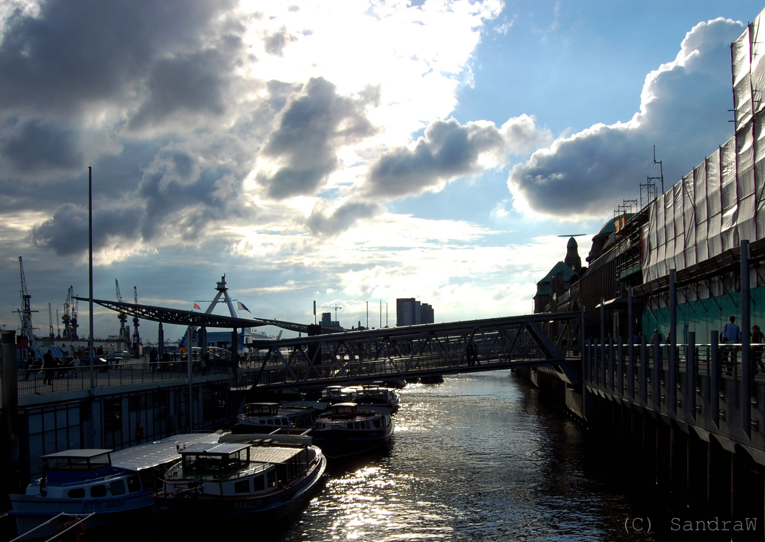
[[(214, 443), (220, 433), (186, 433), (114, 452), (88, 448), (42, 456), (43, 475), (23, 495), (11, 494), (11, 515), (19, 534), (52, 537), (62, 521), (94, 514), (86, 527), (99, 527), (151, 510), (156, 480), (179, 450), (193, 443)], [(61, 513), (61, 521), (50, 521)], [(40, 527), (40, 528), (37, 528)]]

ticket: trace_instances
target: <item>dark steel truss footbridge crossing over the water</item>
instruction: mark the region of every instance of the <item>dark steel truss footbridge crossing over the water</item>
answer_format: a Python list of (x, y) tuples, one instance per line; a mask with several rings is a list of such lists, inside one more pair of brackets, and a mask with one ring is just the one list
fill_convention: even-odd
[(237, 385), (309, 388), (539, 365), (581, 385), (568, 363), (581, 362), (571, 340), (580, 326), (581, 313), (542, 313), (259, 342), (259, 363)]

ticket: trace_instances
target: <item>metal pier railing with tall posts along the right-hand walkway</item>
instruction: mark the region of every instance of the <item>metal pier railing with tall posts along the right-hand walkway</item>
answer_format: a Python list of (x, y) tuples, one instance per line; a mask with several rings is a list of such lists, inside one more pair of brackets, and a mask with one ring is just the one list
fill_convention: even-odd
[(689, 343), (674, 351), (658, 337), (636, 344), (587, 341), (584, 386), (765, 450), (765, 344), (718, 344), (716, 333), (710, 343), (695, 344), (695, 334), (688, 335)]

